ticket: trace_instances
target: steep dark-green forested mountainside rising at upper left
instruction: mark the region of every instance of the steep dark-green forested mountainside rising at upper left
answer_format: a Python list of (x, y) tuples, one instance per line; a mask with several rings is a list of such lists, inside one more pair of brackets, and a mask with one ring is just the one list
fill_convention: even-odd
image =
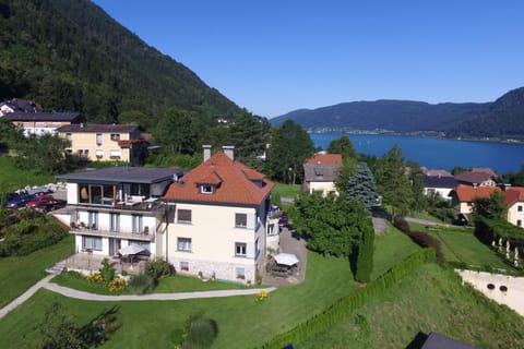
[(240, 112), (88, 0), (0, 0), (0, 100), (13, 97), (146, 130), (165, 110), (204, 122)]

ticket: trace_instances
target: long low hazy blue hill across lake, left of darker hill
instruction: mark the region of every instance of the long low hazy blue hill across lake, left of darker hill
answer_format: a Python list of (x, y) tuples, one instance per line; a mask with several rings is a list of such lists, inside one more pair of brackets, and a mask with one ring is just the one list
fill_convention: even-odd
[(467, 120), (489, 104), (438, 104), (410, 100), (352, 101), (318, 109), (300, 109), (271, 120), (273, 125), (290, 119), (307, 129), (338, 128), (395, 132), (444, 131)]

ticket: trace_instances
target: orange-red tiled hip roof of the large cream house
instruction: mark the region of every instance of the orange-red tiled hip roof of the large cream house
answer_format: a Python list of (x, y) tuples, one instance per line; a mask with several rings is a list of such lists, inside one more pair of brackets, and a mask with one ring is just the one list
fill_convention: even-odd
[[(201, 184), (216, 185), (212, 194), (202, 193)], [(175, 202), (209, 204), (260, 205), (273, 189), (265, 176), (239, 161), (234, 161), (224, 152), (214, 154), (172, 183), (163, 198)]]

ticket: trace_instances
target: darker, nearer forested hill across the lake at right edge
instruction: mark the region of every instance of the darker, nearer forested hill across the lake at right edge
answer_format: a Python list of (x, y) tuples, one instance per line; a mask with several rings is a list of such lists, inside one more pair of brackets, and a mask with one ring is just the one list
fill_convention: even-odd
[(498, 137), (524, 140), (524, 87), (510, 91), (491, 108), (448, 130), (453, 137)]

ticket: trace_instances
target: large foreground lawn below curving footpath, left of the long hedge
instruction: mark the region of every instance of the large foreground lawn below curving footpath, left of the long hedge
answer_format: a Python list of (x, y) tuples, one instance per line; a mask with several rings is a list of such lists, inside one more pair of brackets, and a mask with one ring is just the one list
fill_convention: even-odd
[(308, 254), (305, 282), (284, 287), (264, 302), (255, 296), (184, 301), (87, 302), (40, 290), (0, 321), (0, 338), (15, 347), (33, 348), (40, 334), (31, 330), (44, 318), (53, 301), (63, 304), (79, 325), (116, 305), (120, 325), (107, 348), (166, 348), (171, 335), (194, 313), (202, 312), (218, 324), (215, 348), (251, 348), (285, 332), (355, 289), (345, 258), (324, 258)]

